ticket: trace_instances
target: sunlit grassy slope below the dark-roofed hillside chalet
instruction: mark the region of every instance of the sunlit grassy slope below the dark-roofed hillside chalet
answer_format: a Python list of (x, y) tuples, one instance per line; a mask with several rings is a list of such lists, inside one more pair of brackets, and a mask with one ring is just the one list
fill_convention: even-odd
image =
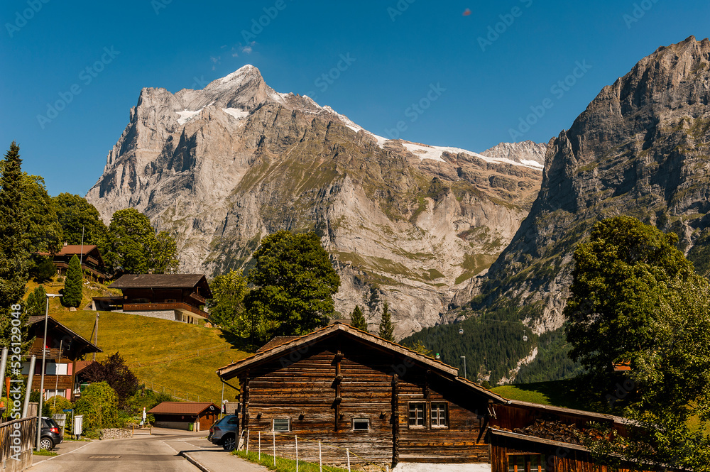
[[(86, 339), (92, 338), (97, 312), (50, 309), (50, 315)], [(156, 391), (219, 404), (222, 383), (217, 368), (249, 356), (232, 348), (215, 328), (171, 322), (137, 314), (99, 312), (100, 361), (120, 353), (138, 379)], [(232, 383), (236, 385), (236, 383)], [(236, 392), (225, 387), (224, 397)]]

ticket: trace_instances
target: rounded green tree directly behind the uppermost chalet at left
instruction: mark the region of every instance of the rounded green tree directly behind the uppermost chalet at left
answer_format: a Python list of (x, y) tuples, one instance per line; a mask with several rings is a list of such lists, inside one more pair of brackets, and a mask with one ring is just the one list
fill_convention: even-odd
[(108, 229), (94, 205), (84, 197), (69, 193), (58, 194), (54, 197), (54, 204), (66, 243), (81, 244), (84, 229), (84, 244), (99, 247), (104, 244)]

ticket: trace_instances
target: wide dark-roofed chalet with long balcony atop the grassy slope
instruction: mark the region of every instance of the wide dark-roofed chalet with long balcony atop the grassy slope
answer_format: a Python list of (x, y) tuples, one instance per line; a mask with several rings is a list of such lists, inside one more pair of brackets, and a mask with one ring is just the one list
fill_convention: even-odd
[(94, 309), (122, 309), (124, 313), (197, 324), (207, 319), (204, 304), (212, 297), (202, 274), (123, 275), (111, 288), (122, 297), (94, 297)]

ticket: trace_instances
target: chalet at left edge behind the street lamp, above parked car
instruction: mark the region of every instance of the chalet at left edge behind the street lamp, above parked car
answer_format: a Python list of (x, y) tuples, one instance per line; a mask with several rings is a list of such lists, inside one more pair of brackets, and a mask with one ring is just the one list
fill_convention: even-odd
[(42, 350), (45, 348), (45, 399), (60, 395), (73, 401), (79, 393), (75, 388), (77, 362), (81, 363), (87, 354), (103, 351), (53, 317), (47, 318), (47, 339), (44, 339), (44, 321), (43, 316), (30, 317), (28, 320), (30, 336), (35, 336), (35, 340), (23, 363), (22, 373), (29, 374), (29, 356), (37, 356), (32, 390), (40, 390)]

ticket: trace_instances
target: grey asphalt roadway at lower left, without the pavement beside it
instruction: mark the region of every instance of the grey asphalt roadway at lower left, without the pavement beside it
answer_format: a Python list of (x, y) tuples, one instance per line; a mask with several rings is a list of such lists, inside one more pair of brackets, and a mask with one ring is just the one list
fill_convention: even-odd
[(184, 435), (142, 436), (94, 441), (33, 466), (31, 472), (199, 472), (166, 441)]

